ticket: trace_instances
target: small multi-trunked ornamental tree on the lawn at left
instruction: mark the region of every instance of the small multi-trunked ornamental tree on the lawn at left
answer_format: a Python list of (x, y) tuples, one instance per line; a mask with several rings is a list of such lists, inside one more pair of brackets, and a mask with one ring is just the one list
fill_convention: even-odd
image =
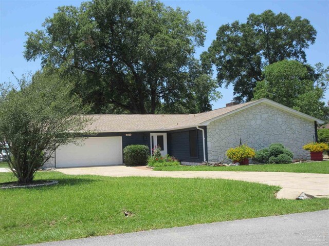
[[(76, 142), (90, 123), (72, 85), (56, 73), (37, 72), (17, 79), (19, 88), (0, 85), (0, 149), (19, 183), (35, 172), (61, 145)], [(86, 133), (86, 132), (84, 132)]]

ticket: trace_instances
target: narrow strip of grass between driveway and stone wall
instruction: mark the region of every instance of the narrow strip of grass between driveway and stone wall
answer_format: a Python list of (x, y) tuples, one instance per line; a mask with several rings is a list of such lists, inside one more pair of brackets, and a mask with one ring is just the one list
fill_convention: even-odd
[(244, 171), (244, 172), (290, 172), (329, 173), (329, 161), (290, 164), (249, 165), (237, 167), (175, 166), (154, 168), (155, 171)]

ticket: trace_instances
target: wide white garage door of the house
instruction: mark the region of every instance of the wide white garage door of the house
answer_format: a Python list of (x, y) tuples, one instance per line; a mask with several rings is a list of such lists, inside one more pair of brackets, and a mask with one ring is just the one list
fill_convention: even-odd
[(89, 137), (78, 146), (68, 144), (56, 150), (57, 168), (121, 164), (121, 137)]

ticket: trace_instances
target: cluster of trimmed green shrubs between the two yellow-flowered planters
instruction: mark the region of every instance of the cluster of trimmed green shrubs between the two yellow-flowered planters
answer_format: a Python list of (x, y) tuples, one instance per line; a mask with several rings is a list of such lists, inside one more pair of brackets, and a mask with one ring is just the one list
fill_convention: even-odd
[(285, 149), (282, 144), (271, 144), (269, 148), (256, 151), (253, 161), (265, 163), (291, 163), (294, 154), (288, 149)]

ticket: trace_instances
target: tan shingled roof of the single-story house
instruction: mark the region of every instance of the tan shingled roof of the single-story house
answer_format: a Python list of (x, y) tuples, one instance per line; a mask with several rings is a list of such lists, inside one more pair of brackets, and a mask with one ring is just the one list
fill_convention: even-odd
[(274, 103), (268, 99), (249, 101), (245, 104), (238, 104), (230, 107), (215, 109), (212, 111), (197, 114), (102, 114), (88, 115), (94, 119), (93, 124), (87, 130), (96, 132), (133, 132), (133, 131), (170, 131), (196, 126), (206, 126), (207, 121), (221, 116), (243, 110), (244, 108), (259, 103), (270, 103), (289, 111), (300, 114), (311, 120), (321, 120), (312, 116), (289, 109), (283, 105)]

